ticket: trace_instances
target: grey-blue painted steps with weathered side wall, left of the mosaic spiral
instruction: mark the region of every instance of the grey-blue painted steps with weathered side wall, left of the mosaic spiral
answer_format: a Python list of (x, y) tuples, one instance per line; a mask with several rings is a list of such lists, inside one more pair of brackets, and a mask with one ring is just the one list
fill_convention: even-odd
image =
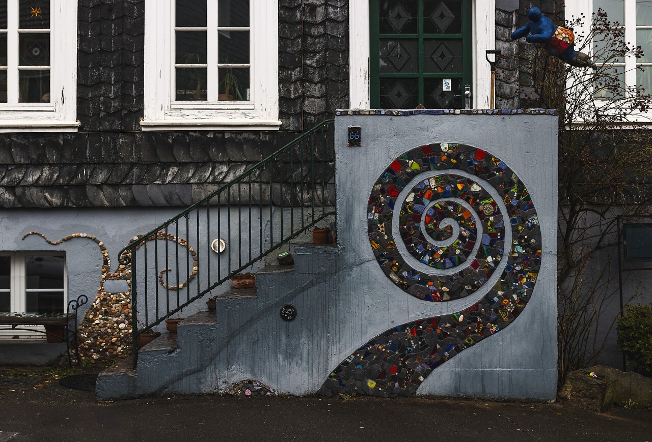
[[(102, 372), (96, 384), (98, 399), (224, 393), (243, 380), (271, 386), (272, 394), (314, 390), (314, 374), (296, 361), (315, 357), (304, 345), (306, 338), (327, 337), (326, 318), (317, 317), (324, 309), (318, 304), (327, 299), (322, 294), (336, 272), (338, 248), (292, 244), (290, 253), (294, 266), (261, 268), (257, 288), (231, 288), (217, 297), (216, 312), (198, 312), (179, 324), (176, 335), (163, 333), (145, 345), (136, 368), (123, 359)], [(299, 318), (280, 321), (280, 309), (289, 304)]]

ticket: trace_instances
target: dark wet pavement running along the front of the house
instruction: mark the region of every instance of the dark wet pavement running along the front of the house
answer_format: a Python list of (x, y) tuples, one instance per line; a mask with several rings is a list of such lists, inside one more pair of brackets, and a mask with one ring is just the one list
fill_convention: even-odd
[(600, 414), (541, 402), (361, 396), (171, 396), (96, 402), (93, 393), (59, 385), (57, 378), (70, 373), (0, 367), (0, 442), (652, 442), (649, 408), (614, 407)]

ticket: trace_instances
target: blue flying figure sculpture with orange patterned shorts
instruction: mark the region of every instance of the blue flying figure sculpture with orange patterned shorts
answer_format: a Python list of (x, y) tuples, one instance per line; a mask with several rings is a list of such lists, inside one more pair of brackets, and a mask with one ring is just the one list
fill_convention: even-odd
[(526, 37), (528, 43), (543, 44), (550, 55), (554, 55), (571, 66), (598, 68), (588, 55), (575, 50), (575, 35), (571, 29), (552, 23), (552, 20), (544, 16), (536, 7), (527, 10), (527, 18), (529, 21), (526, 25), (512, 33), (512, 40)]

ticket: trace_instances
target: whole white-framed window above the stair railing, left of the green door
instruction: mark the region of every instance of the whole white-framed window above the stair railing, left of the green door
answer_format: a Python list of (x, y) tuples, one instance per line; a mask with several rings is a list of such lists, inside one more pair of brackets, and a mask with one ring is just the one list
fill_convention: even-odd
[(143, 130), (274, 130), (278, 0), (145, 0)]

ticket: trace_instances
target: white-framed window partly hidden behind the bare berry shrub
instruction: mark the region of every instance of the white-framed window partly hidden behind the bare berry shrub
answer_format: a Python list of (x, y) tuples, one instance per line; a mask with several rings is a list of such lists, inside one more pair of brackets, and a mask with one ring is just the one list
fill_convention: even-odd
[[(636, 58), (627, 55), (624, 58), (601, 59), (604, 54), (604, 42), (591, 42), (589, 48), (585, 42), (580, 42), (584, 47), (576, 49), (589, 53), (598, 65), (608, 65), (617, 74), (621, 85), (625, 89), (644, 87), (645, 93), (652, 93), (652, 0), (574, 0), (565, 3), (565, 17), (567, 20), (584, 15), (582, 25), (576, 25), (573, 29), (575, 35), (587, 35), (591, 26), (593, 14), (602, 9), (607, 14), (608, 20), (623, 30), (624, 41), (627, 46), (641, 46), (644, 51), (643, 57)], [(639, 69), (641, 67), (642, 69)], [(593, 99), (596, 105), (610, 99), (613, 93), (608, 89), (593, 90)], [(651, 122), (652, 113), (632, 113), (628, 120), (639, 122)]]

